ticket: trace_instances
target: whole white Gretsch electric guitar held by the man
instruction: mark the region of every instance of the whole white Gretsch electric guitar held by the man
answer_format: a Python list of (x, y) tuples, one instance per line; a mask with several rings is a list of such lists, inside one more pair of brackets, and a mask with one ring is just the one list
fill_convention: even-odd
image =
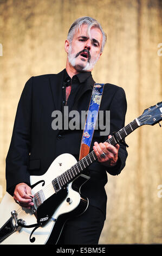
[[(115, 145), (141, 125), (154, 125), (162, 120), (162, 102), (144, 113), (107, 140)], [(159, 124), (160, 125), (160, 124)], [(42, 176), (30, 176), (34, 206), (25, 209), (6, 193), (0, 204), (0, 243), (6, 245), (56, 244), (64, 223), (81, 215), (88, 198), (80, 194), (90, 178), (84, 170), (97, 159), (94, 151), (79, 162), (70, 154), (58, 156)]]

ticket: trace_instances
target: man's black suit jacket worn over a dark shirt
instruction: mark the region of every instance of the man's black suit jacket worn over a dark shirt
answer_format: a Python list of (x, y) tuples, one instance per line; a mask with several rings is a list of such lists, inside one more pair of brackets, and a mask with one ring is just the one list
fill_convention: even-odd
[[(44, 174), (54, 159), (63, 153), (70, 153), (79, 159), (82, 130), (53, 130), (51, 123), (54, 110), (62, 109), (62, 85), (64, 71), (59, 74), (31, 77), (23, 89), (18, 103), (10, 148), (6, 159), (7, 191), (12, 195), (16, 184), (30, 185), (30, 175)], [(94, 80), (92, 75), (80, 87), (73, 109), (87, 111)], [(105, 84), (100, 110), (109, 110), (111, 115), (110, 134), (125, 125), (127, 109), (125, 92), (121, 87)], [(95, 141), (104, 142), (108, 136), (100, 136), (95, 130)], [(119, 160), (115, 167), (108, 168), (94, 162), (88, 169), (90, 180), (82, 186), (81, 192), (89, 203), (100, 208), (106, 215), (107, 173), (118, 175), (125, 166), (127, 151), (120, 145)]]

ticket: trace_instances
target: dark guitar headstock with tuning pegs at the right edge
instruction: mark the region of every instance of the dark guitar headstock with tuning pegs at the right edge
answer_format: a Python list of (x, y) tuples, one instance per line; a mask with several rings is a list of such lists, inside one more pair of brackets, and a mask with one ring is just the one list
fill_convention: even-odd
[(137, 118), (140, 125), (154, 125), (162, 120), (162, 102), (145, 109), (144, 113)]

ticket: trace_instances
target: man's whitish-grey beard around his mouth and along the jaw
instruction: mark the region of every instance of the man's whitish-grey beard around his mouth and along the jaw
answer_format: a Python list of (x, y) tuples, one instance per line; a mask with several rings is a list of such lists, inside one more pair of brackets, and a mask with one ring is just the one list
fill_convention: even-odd
[[(81, 52), (83, 52), (83, 51), (85, 51), (85, 50), (82, 50)], [(86, 50), (86, 51), (88, 52), (89, 57), (87, 59), (87, 64), (85, 66), (85, 65), (82, 65), (82, 64), (76, 64), (76, 58), (77, 58), (77, 56), (80, 55), (81, 52), (79, 52), (77, 54), (72, 53), (72, 46), (70, 45), (70, 47), (69, 47), (69, 52), (68, 52), (69, 63), (79, 72), (92, 70), (94, 68), (94, 65), (96, 64), (96, 62), (98, 61), (98, 59), (100, 57), (100, 53), (99, 53), (98, 57), (93, 59), (90, 56), (89, 51), (88, 50)]]

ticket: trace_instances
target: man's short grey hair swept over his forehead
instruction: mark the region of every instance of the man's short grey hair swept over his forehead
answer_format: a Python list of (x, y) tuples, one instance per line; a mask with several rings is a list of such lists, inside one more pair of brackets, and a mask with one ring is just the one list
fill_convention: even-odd
[(69, 29), (68, 36), (67, 36), (67, 39), (69, 40), (69, 42), (70, 43), (72, 42), (76, 29), (77, 29), (77, 31), (79, 31), (79, 29), (81, 29), (83, 24), (88, 25), (88, 32), (90, 31), (90, 28), (92, 28), (92, 27), (97, 27), (100, 29), (102, 36), (103, 36), (102, 45), (101, 45), (101, 52), (102, 52), (103, 48), (106, 44), (107, 36), (106, 36), (106, 33), (103, 31), (100, 23), (98, 21), (96, 21), (95, 19), (93, 19), (92, 17), (86, 17), (86, 16), (81, 17), (73, 22), (72, 26)]

